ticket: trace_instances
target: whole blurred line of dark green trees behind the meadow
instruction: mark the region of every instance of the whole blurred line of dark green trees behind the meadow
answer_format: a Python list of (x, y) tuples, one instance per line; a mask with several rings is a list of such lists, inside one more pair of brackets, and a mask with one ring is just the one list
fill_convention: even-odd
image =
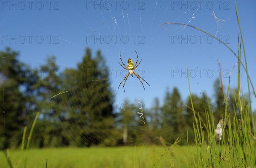
[[(169, 143), (180, 137), (179, 145), (185, 145), (187, 138), (193, 144), (191, 101), (189, 97), (181, 100), (176, 87), (167, 88), (163, 98), (155, 98), (151, 108), (145, 109), (143, 102), (140, 108), (135, 100), (115, 100), (100, 50), (93, 56), (86, 48), (76, 68), (61, 72), (54, 56), (32, 69), (18, 55), (10, 48), (0, 52), (1, 149), (20, 146), (24, 126), (29, 132), (37, 112), (40, 115), (30, 137), (33, 147), (150, 145), (160, 144), (160, 136)], [(201, 122), (208, 111), (217, 125), (225, 112), (218, 78), (212, 88), (214, 97), (201, 92), (192, 95), (192, 100)], [(239, 118), (232, 90), (228, 100), (227, 111)], [(125, 106), (116, 110), (115, 102), (121, 101)], [(145, 124), (138, 114), (142, 110)]]

